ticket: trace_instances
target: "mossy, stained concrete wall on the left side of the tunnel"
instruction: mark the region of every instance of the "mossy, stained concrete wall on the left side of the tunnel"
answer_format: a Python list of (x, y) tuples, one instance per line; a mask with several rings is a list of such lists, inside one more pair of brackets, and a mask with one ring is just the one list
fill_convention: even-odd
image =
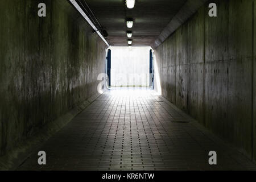
[[(39, 18), (38, 3), (47, 6)], [(97, 92), (106, 46), (68, 1), (0, 1), (0, 154)]]

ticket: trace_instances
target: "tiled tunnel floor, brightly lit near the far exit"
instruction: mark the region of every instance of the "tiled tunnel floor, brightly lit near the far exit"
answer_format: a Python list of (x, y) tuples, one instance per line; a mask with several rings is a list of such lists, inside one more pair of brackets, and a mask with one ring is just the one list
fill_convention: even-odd
[[(213, 139), (154, 91), (114, 89), (97, 98), (19, 170), (256, 169), (245, 156)], [(217, 152), (210, 166), (208, 152)]]

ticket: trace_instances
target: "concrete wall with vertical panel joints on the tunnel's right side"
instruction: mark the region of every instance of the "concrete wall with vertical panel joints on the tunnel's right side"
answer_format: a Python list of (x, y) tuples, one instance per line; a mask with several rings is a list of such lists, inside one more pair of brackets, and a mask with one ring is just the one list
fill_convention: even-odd
[(256, 1), (210, 2), (156, 48), (162, 95), (256, 159)]

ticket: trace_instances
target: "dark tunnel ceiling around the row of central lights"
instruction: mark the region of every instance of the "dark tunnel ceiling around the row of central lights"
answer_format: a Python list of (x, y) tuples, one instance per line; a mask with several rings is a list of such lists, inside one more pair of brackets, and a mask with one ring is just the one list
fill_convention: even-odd
[[(111, 46), (127, 46), (126, 31), (133, 31), (133, 46), (152, 46), (186, 0), (137, 0), (127, 9), (125, 0), (86, 0), (101, 26), (108, 31)], [(133, 28), (126, 18), (134, 19)]]

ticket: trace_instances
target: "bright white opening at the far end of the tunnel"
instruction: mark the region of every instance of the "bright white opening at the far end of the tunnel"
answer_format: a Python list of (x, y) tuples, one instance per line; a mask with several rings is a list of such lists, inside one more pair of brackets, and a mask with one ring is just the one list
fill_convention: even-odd
[(111, 86), (152, 86), (151, 47), (111, 47)]

